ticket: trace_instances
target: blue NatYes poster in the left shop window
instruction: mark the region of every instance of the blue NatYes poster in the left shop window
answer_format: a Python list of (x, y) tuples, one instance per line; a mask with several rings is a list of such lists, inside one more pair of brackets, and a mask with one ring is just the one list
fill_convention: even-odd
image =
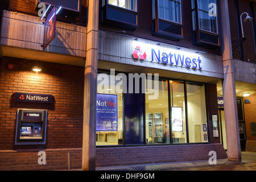
[(117, 95), (97, 94), (96, 131), (117, 131)]

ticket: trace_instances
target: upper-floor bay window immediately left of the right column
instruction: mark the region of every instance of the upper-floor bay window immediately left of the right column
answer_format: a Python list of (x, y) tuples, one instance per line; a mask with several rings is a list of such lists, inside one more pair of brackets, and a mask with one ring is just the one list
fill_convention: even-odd
[(196, 46), (219, 46), (216, 0), (191, 0), (193, 43)]

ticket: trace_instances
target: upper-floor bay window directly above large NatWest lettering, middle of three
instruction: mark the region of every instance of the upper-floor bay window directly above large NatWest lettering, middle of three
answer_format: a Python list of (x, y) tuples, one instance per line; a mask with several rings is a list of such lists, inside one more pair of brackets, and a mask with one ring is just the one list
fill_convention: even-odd
[(182, 0), (152, 0), (153, 34), (164, 39), (183, 39)]

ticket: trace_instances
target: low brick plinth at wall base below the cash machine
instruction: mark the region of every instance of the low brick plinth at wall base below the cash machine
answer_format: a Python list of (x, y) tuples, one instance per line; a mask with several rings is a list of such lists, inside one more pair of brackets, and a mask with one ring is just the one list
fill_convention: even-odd
[[(81, 148), (65, 148), (63, 150), (44, 150), (46, 152), (46, 164), (39, 164), (38, 155), (40, 150), (0, 150), (0, 170), (1, 171), (27, 171), (27, 170), (57, 170), (81, 168), (82, 150)], [(70, 154), (70, 156), (68, 155)], [(68, 159), (69, 158), (69, 159)]]

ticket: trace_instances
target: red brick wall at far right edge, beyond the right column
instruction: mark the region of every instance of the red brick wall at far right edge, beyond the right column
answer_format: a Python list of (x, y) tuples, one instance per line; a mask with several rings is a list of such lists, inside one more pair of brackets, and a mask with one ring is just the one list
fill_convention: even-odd
[(243, 100), (250, 99), (250, 104), (244, 104), (245, 129), (246, 129), (246, 151), (256, 152), (256, 137), (251, 137), (250, 123), (256, 122), (256, 94), (243, 97)]

